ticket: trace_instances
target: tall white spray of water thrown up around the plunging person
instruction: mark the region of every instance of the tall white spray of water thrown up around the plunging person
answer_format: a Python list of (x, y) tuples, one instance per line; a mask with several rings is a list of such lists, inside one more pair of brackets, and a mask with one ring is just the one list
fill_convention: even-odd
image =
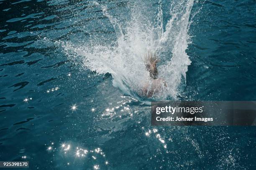
[(157, 65), (159, 77), (164, 79), (167, 87), (152, 98), (175, 99), (179, 85), (186, 81), (187, 67), (191, 63), (185, 50), (189, 43), (189, 15), (193, 0), (172, 2), (169, 8), (170, 19), (165, 27), (161, 0), (158, 13), (152, 21), (143, 16), (141, 9), (133, 7), (131, 18), (122, 24), (110, 15), (106, 6), (97, 2), (94, 4), (101, 7), (103, 15), (113, 25), (117, 37), (115, 45), (109, 43), (78, 47), (66, 43), (64, 48), (83, 56), (84, 67), (96, 70), (99, 74), (111, 73), (113, 86), (140, 100), (140, 90), (150, 81), (144, 56), (147, 52), (156, 53), (160, 60)]

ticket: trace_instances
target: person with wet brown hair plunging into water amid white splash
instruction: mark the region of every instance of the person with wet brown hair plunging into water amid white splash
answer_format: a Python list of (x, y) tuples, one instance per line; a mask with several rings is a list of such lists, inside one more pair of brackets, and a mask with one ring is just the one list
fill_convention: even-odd
[(156, 64), (159, 59), (155, 54), (148, 52), (145, 56), (146, 70), (149, 72), (150, 80), (148, 80), (142, 87), (142, 95), (146, 97), (152, 97), (166, 89), (167, 85), (164, 79), (158, 77), (158, 70)]

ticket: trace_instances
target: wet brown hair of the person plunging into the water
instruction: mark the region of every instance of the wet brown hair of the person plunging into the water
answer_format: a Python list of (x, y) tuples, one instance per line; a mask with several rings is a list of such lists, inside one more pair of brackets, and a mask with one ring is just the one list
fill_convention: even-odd
[(156, 68), (156, 64), (158, 62), (159, 62), (159, 59), (156, 57), (156, 54), (148, 52), (148, 54), (145, 55), (146, 70), (148, 70), (149, 76), (152, 79), (158, 78), (158, 71)]

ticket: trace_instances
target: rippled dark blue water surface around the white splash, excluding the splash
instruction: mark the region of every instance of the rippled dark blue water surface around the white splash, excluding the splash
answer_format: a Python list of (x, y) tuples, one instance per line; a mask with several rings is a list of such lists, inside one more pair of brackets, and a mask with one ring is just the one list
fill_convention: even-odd
[[(14, 1), (0, 1), (1, 159), (49, 170), (255, 167), (255, 128), (151, 127), (149, 106), (113, 87), (110, 74), (67, 60), (60, 40), (115, 41), (90, 1)], [(120, 21), (131, 2), (99, 1)], [(159, 6), (143, 2), (141, 10)], [(166, 25), (169, 2), (162, 2)], [(255, 5), (195, 1), (192, 11), (202, 9), (190, 25), (192, 63), (180, 100), (255, 100)]]

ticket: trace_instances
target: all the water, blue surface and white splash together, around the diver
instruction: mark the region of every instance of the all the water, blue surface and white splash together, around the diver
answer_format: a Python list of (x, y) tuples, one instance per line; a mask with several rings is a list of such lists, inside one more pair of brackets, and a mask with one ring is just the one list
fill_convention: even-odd
[[(0, 1), (0, 160), (255, 169), (253, 127), (151, 127), (151, 100), (255, 100), (256, 4)], [(138, 94), (156, 52), (167, 91)], [(25, 157), (26, 156), (26, 157)]]

